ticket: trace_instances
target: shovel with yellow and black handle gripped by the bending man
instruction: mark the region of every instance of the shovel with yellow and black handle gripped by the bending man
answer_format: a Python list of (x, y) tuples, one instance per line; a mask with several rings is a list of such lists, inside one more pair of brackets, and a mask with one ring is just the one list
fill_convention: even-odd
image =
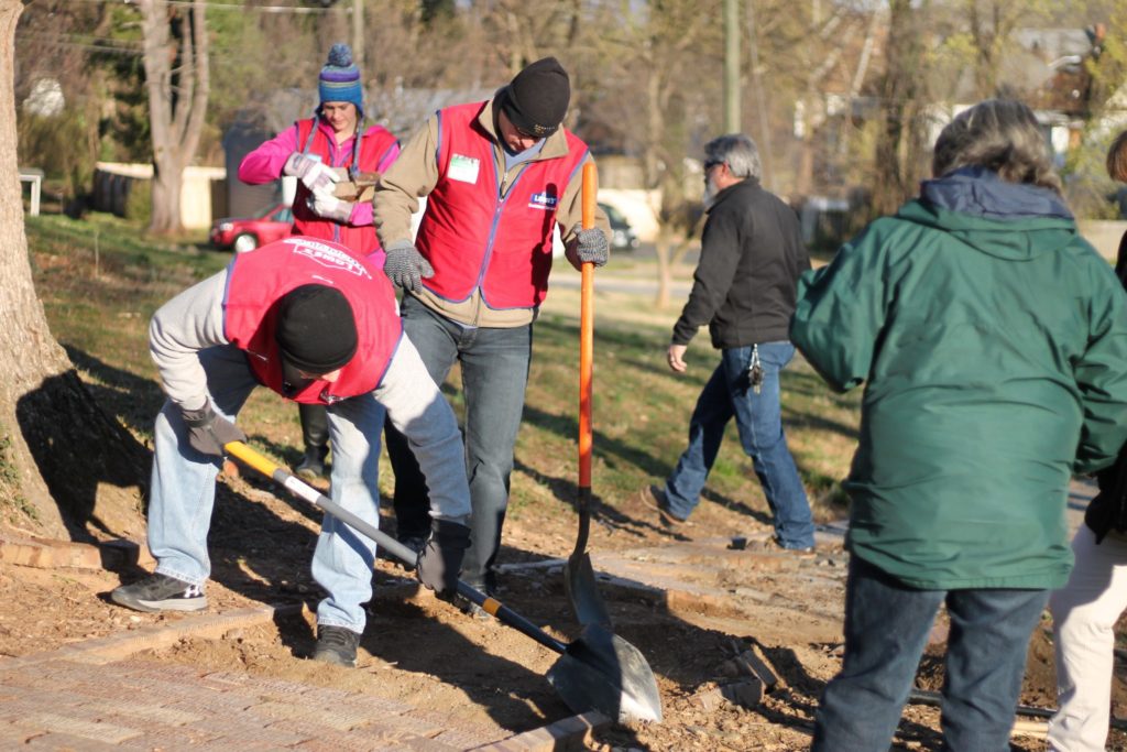
[[(294, 496), (310, 502), (367, 536), (400, 561), (414, 565), (418, 555), (387, 533), (334, 503), (325, 494), (300, 480), (286, 468), (259, 454), (241, 441), (223, 448), (232, 457), (284, 486)], [(662, 698), (657, 680), (646, 658), (630, 643), (598, 625), (584, 627), (574, 643), (561, 643), (500, 601), (458, 582), (458, 593), (481, 607), (506, 627), (531, 637), (560, 658), (548, 671), (548, 682), (574, 713), (598, 710), (620, 723), (660, 720)]]

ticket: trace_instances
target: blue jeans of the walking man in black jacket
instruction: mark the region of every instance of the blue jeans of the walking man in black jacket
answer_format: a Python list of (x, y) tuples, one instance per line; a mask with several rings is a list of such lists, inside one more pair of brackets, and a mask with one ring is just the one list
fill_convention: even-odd
[(665, 494), (669, 511), (678, 517), (687, 517), (696, 508), (720, 451), (724, 430), (735, 416), (739, 443), (752, 458), (774, 515), (775, 537), (786, 548), (808, 548), (814, 546), (810, 504), (795, 458), (787, 448), (779, 404), (779, 372), (795, 356), (795, 346), (789, 342), (769, 342), (761, 344), (758, 351), (763, 384), (757, 395), (747, 378), (752, 347), (721, 351), (720, 365), (696, 398), (689, 423), (689, 446), (665, 481)]

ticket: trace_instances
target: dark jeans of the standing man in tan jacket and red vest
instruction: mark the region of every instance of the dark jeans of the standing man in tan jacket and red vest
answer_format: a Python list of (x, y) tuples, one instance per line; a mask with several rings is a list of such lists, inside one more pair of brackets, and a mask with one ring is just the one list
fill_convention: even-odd
[[(500, 533), (508, 508), (513, 448), (524, 412), (532, 360), (532, 325), (502, 329), (464, 327), (440, 316), (414, 295), (403, 295), (403, 331), (423, 356), (435, 383), (462, 368), (465, 471), (470, 481), (470, 548), (462, 578), (492, 590)], [(431, 529), (426, 483), (407, 441), (390, 425), (388, 457), (396, 474), (397, 534), (426, 537)]]

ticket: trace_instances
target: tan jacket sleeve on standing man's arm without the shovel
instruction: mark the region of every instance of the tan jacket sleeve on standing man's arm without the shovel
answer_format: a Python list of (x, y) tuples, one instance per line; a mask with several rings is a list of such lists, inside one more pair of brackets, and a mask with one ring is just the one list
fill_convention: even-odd
[(438, 183), (438, 118), (432, 115), (426, 125), (403, 144), (399, 157), (380, 178), (372, 198), (372, 216), (380, 245), (411, 242), (411, 214), (418, 211), (419, 197)]

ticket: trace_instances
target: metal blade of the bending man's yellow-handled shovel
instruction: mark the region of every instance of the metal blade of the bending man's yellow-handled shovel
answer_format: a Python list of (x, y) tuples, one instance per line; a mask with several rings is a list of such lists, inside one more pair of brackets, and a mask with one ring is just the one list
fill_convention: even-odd
[(598, 625), (584, 627), (548, 671), (548, 681), (575, 713), (598, 710), (619, 723), (662, 720), (662, 697), (646, 658)]

